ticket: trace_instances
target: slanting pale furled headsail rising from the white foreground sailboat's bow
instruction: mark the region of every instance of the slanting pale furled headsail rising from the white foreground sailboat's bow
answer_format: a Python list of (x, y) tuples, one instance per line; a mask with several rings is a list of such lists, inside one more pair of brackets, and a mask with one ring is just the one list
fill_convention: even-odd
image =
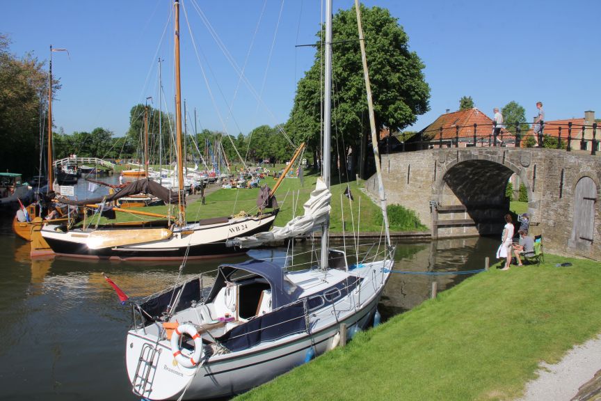
[(378, 151), (378, 135), (376, 134), (376, 117), (374, 116), (374, 102), (371, 98), (371, 84), (369, 83), (369, 70), (367, 69), (367, 57), (365, 56), (365, 40), (363, 38), (363, 26), (361, 23), (361, 6), (359, 0), (355, 0), (355, 10), (357, 12), (357, 29), (359, 30), (359, 45), (361, 47), (361, 61), (363, 63), (363, 77), (365, 80), (365, 89), (367, 91), (367, 108), (369, 110), (369, 127), (371, 128), (371, 146), (374, 148), (374, 161), (376, 162), (376, 175), (378, 176), (378, 195), (380, 196), (380, 207), (384, 219), (384, 228), (386, 233), (386, 244), (390, 243), (390, 228), (388, 226), (388, 213), (386, 210), (386, 194), (384, 192), (384, 183), (382, 182), (382, 171), (380, 166), (380, 152)]

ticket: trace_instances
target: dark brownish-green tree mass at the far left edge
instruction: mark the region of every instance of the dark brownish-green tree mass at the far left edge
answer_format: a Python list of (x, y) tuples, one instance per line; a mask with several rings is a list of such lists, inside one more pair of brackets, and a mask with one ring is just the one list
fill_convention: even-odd
[[(0, 171), (33, 175), (39, 166), (40, 116), (47, 108), (48, 74), (31, 54), (10, 54), (0, 33)], [(59, 86), (54, 82), (55, 90)]]

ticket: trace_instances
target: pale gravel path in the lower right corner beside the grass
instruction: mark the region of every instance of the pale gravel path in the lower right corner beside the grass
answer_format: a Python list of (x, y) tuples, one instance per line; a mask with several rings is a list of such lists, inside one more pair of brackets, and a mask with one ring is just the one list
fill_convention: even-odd
[(538, 378), (526, 385), (518, 401), (569, 401), (578, 388), (601, 370), (601, 334), (572, 348), (554, 365), (540, 363)]

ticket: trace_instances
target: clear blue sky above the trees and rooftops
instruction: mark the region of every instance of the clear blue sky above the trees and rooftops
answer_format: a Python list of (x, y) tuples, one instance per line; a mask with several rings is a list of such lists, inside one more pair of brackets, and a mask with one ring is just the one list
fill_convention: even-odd
[[(413, 129), (422, 129), (446, 109), (458, 109), (463, 95), (472, 96), (489, 116), (493, 107), (515, 100), (531, 120), (540, 100), (547, 120), (583, 117), (586, 110), (601, 117), (601, 52), (595, 45), (601, 1), (363, 3), (388, 8), (408, 33), (410, 49), (426, 65), (431, 111), (420, 116)], [(259, 125), (287, 120), (296, 81), (314, 58), (311, 47), (295, 45), (315, 41), (320, 5), (317, 0), (184, 0), (200, 63), (182, 10), (182, 95), (189, 113), (196, 109), (199, 130), (223, 131), (225, 125), (230, 134), (248, 134)], [(335, 10), (352, 5), (353, 0), (334, 1)], [(134, 104), (152, 96), (152, 105), (159, 107), (159, 56), (165, 60), (165, 102), (173, 111), (171, 8), (170, 0), (3, 0), (0, 32), (8, 33), (10, 51), (17, 56), (33, 52), (47, 60), (49, 45), (69, 50), (70, 56), (53, 56), (54, 75), (63, 85), (53, 104), (58, 127), (67, 134), (104, 127), (122, 136)], [(239, 82), (198, 10), (237, 65), (245, 65), (249, 54), (245, 75), (256, 93), (262, 93), (263, 104)]]

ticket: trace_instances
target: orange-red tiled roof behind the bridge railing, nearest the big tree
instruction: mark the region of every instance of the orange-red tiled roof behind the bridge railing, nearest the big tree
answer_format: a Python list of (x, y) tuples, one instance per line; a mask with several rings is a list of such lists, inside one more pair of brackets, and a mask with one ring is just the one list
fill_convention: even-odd
[[(457, 135), (457, 127), (459, 127), (460, 137), (472, 137), (474, 136), (474, 123), (477, 124), (476, 135), (486, 136), (492, 132), (492, 118), (474, 107), (442, 114), (431, 125), (422, 129), (421, 133), (424, 135), (424, 139), (438, 139), (440, 138), (440, 127), (442, 127), (442, 139), (454, 139)], [(504, 128), (501, 129), (501, 134), (508, 139), (513, 138), (513, 135)]]

